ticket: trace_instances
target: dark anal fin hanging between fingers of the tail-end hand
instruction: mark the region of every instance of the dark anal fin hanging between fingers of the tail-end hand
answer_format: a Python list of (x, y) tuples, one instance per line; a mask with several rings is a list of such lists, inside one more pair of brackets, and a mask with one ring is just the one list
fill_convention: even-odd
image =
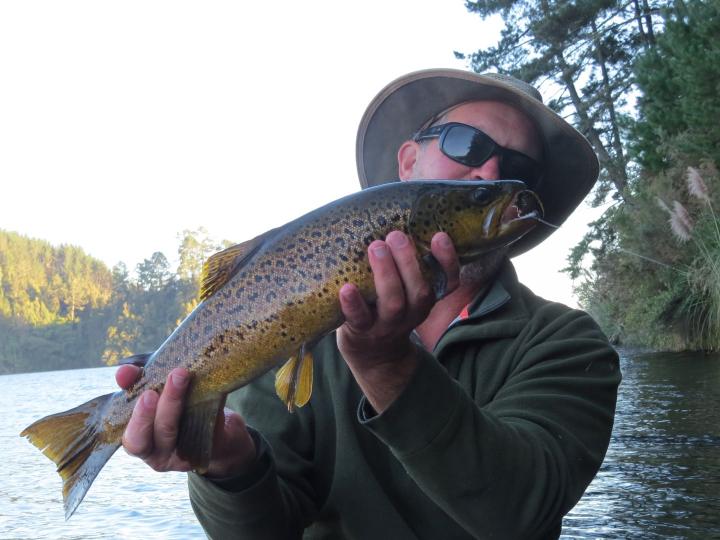
[[(190, 396), (188, 401), (191, 402)], [(180, 419), (177, 454), (189, 461), (196, 472), (207, 470), (212, 453), (213, 435), (222, 398), (201, 401), (188, 406)]]

